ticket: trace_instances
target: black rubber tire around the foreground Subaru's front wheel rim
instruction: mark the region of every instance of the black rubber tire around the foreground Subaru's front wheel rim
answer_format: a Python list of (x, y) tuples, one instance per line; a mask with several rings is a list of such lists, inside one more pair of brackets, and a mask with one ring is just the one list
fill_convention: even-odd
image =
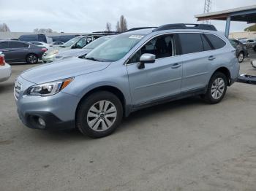
[[(97, 130), (102, 130), (102, 131), (97, 131), (92, 129), (89, 126), (89, 122), (88, 122), (89, 109), (91, 109), (92, 106), (95, 106), (95, 104), (97, 104), (99, 101), (109, 101), (111, 104), (113, 104), (116, 107), (116, 118), (115, 120), (113, 120), (112, 125), (108, 126), (108, 123), (105, 120), (105, 117), (107, 117), (107, 114), (105, 114), (105, 117), (101, 119), (105, 122), (105, 125), (108, 126), (106, 130), (100, 129), (100, 126), (99, 128), (97, 128)], [(95, 112), (95, 114), (97, 113)], [(97, 116), (99, 117), (99, 114), (97, 114)], [(93, 118), (93, 120), (96, 118), (97, 117)], [(89, 97), (83, 99), (83, 101), (80, 102), (76, 112), (75, 125), (76, 125), (76, 128), (78, 128), (78, 130), (80, 130), (80, 132), (83, 133), (84, 135), (89, 136), (91, 138), (101, 138), (113, 133), (113, 131), (116, 130), (118, 125), (121, 123), (122, 118), (123, 118), (123, 106), (121, 104), (121, 101), (118, 99), (118, 97), (113, 93), (110, 93), (107, 91), (99, 91), (89, 95)], [(97, 122), (94, 124), (94, 126), (97, 124)], [(102, 123), (103, 122), (101, 121), (100, 122), (101, 126), (102, 126)]]

